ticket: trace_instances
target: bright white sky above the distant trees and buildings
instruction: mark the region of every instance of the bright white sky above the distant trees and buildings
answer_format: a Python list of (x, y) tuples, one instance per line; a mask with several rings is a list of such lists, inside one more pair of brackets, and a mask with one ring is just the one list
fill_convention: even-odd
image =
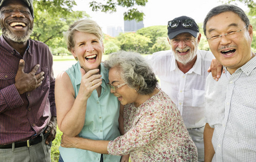
[[(102, 28), (103, 32), (107, 32), (107, 26), (121, 26), (123, 28), (123, 12), (126, 8), (117, 8), (113, 14), (106, 14), (100, 11), (91, 11), (89, 2), (93, 0), (75, 0), (77, 6), (74, 10), (86, 11), (91, 19), (96, 21)], [(99, 0), (94, 0), (100, 2)], [(105, 1), (106, 2), (106, 1)], [(204, 18), (208, 11), (222, 4), (219, 0), (148, 0), (146, 6), (139, 11), (144, 12), (144, 27), (154, 25), (167, 25), (167, 22), (179, 16), (192, 17), (196, 23), (204, 22)], [(237, 2), (240, 8), (247, 11), (248, 8), (242, 3)]]

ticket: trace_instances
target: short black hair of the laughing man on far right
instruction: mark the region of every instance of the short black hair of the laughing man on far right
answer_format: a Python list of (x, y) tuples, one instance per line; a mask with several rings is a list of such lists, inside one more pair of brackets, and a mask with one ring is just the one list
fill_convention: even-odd
[[(235, 14), (237, 14), (243, 22), (245, 22), (245, 24), (250, 24), (250, 20), (248, 19), (247, 15), (245, 14), (245, 12), (239, 8), (238, 6), (232, 5), (232, 4), (222, 4), (219, 6), (216, 6), (215, 8), (213, 8), (211, 11), (208, 12), (208, 14), (205, 17), (204, 20), (204, 33), (206, 35), (206, 23), (209, 21), (210, 18), (212, 18), (213, 16), (219, 15), (222, 12), (234, 12)], [(248, 30), (248, 26), (246, 26), (246, 29)]]

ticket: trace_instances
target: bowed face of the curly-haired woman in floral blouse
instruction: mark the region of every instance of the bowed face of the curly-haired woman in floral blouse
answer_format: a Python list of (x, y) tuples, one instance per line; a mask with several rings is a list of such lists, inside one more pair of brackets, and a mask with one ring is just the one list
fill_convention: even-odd
[[(125, 83), (121, 78), (120, 70), (118, 68), (110, 68), (109, 70), (109, 84), (117, 86)], [(139, 94), (132, 88), (130, 88), (127, 84), (117, 88), (115, 91), (110, 90), (111, 93), (118, 98), (122, 105), (130, 104), (130, 103), (138, 103)]]

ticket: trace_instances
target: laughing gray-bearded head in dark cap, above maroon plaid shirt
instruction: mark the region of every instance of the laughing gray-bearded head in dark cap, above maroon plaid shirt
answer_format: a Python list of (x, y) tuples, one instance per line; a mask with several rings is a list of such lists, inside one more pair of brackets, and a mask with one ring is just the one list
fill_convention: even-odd
[(33, 30), (33, 18), (23, 1), (5, 1), (0, 10), (1, 30), (7, 41), (26, 42)]

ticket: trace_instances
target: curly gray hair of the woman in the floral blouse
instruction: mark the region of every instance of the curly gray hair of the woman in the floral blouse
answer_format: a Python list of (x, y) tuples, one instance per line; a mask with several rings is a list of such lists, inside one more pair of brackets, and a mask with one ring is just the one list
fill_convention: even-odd
[(139, 53), (119, 51), (111, 53), (104, 62), (107, 69), (119, 68), (121, 78), (140, 95), (152, 93), (157, 85), (155, 74)]

